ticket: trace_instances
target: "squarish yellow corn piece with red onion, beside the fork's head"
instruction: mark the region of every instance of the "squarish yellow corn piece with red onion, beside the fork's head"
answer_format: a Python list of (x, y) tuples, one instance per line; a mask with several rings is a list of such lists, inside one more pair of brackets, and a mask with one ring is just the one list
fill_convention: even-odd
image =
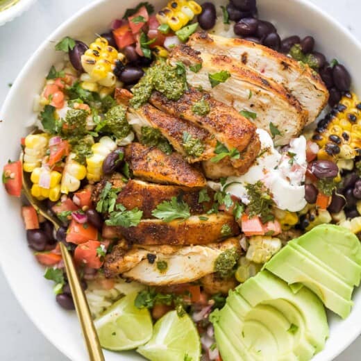
[[(31, 195), (40, 201), (49, 198), (51, 201), (58, 201), (60, 198), (60, 180), (61, 174), (58, 171), (50, 171), (43, 167), (36, 167), (30, 176), (33, 186)], [(47, 184), (40, 186), (39, 183)]]

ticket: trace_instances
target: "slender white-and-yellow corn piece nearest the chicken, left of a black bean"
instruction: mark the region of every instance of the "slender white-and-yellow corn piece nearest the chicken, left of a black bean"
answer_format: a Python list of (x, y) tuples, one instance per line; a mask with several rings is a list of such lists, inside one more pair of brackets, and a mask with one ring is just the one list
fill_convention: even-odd
[(115, 148), (117, 148), (117, 144), (110, 137), (101, 137), (98, 143), (92, 145), (92, 156), (86, 158), (87, 179), (90, 182), (100, 181), (103, 174), (101, 170), (103, 161)]

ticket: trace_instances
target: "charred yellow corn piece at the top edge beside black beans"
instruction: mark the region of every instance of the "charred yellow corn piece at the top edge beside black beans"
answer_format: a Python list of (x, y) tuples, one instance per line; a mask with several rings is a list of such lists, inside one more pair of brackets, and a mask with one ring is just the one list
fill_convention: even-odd
[(187, 25), (195, 15), (202, 12), (202, 7), (192, 0), (169, 1), (156, 17), (160, 24), (168, 24), (171, 30), (178, 31)]

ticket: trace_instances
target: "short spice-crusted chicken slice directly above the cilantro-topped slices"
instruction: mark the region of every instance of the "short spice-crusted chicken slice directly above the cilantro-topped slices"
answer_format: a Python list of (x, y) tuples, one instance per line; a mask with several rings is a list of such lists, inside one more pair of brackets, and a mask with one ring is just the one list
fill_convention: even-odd
[(156, 147), (131, 143), (126, 146), (125, 160), (135, 177), (155, 183), (204, 187), (201, 171), (189, 165), (178, 153), (167, 155)]

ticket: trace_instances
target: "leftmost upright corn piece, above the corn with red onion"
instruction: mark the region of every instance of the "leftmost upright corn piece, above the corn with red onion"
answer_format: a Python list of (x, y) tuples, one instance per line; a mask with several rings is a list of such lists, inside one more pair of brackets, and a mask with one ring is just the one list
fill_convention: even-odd
[(36, 167), (40, 167), (42, 160), (47, 152), (49, 142), (49, 135), (29, 134), (25, 138), (24, 149), (24, 171), (31, 172)]

